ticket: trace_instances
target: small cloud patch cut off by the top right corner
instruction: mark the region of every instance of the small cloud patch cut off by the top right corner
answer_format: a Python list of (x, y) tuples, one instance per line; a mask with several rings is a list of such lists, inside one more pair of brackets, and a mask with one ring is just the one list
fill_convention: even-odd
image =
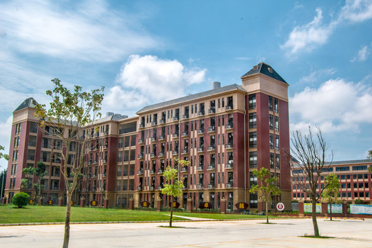
[(347, 0), (345, 6), (342, 7), (340, 19), (346, 19), (352, 22), (372, 19), (372, 1)]

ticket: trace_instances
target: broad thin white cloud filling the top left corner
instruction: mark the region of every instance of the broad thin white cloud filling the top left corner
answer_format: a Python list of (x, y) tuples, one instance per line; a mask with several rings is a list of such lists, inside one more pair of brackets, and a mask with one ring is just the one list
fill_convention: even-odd
[(17, 52), (106, 62), (160, 45), (138, 19), (105, 1), (65, 4), (69, 8), (46, 0), (1, 3), (1, 39)]

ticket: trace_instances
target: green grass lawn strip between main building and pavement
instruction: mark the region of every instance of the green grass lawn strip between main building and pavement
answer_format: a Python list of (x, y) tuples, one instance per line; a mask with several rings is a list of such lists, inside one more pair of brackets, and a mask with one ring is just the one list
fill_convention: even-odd
[[(0, 224), (5, 223), (63, 223), (66, 207), (33, 206), (18, 208), (14, 205), (0, 205)], [(150, 221), (169, 220), (170, 212), (165, 211), (136, 211), (127, 209), (103, 209), (94, 207), (72, 207), (71, 222), (97, 221)], [(189, 216), (211, 219), (265, 218), (245, 214), (202, 214), (174, 212), (176, 216)], [(173, 220), (185, 220), (174, 217)]]

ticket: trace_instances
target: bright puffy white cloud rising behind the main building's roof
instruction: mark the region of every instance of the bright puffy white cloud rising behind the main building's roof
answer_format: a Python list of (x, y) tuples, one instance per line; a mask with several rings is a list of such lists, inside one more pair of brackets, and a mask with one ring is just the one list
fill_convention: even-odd
[(205, 81), (206, 70), (185, 68), (176, 60), (131, 55), (105, 96), (105, 109), (139, 110), (146, 104), (185, 96), (185, 89)]

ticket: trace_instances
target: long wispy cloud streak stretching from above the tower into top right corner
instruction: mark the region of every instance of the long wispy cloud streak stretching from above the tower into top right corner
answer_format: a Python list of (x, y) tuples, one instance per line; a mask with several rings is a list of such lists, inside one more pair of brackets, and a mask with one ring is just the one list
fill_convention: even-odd
[(324, 43), (338, 26), (345, 21), (353, 23), (372, 19), (372, 2), (370, 0), (347, 0), (340, 13), (330, 23), (322, 23), (322, 10), (316, 8), (316, 17), (313, 21), (297, 25), (290, 32), (287, 41), (280, 45), (287, 50), (287, 55), (293, 56), (300, 52), (311, 52)]

